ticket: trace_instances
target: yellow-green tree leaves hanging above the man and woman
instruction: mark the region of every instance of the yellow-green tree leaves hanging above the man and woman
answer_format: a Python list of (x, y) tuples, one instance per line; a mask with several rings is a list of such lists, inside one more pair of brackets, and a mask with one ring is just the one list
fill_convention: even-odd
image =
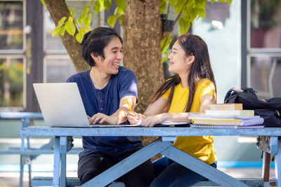
[[(44, 0), (41, 0), (44, 4)], [(168, 18), (170, 8), (174, 8), (176, 13), (175, 24), (178, 22), (179, 32), (185, 34), (190, 29), (190, 25), (193, 24), (195, 19), (204, 18), (206, 14), (205, 5), (208, 0), (160, 0), (160, 12), (166, 14), (166, 19)], [(211, 0), (213, 4), (215, 0)], [(231, 3), (232, 0), (218, 0), (218, 2)], [(124, 13), (125, 13), (125, 0), (115, 0), (117, 8), (115, 8), (115, 13), (107, 18), (107, 24), (110, 27), (114, 27), (119, 18), (120, 25), (122, 25)], [(76, 39), (81, 43), (83, 36), (86, 32), (91, 30), (91, 15), (93, 13), (98, 14), (100, 11), (107, 9), (110, 10), (112, 5), (112, 0), (91, 0), (88, 5), (86, 5), (77, 20), (74, 17), (74, 11), (70, 9), (71, 16), (69, 18), (63, 17), (58, 23), (57, 27), (53, 29), (52, 36), (58, 36), (65, 34), (65, 30), (68, 34), (74, 36), (76, 29), (78, 30), (76, 34)], [(163, 33), (163, 39), (161, 42), (162, 48), (162, 62), (166, 61), (169, 55), (169, 45), (171, 43), (171, 33)]]

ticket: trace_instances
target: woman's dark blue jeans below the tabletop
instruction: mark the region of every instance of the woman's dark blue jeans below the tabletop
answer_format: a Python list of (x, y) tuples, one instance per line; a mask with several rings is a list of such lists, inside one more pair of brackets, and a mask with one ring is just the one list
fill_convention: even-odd
[[(173, 160), (163, 157), (152, 162), (155, 172), (155, 180), (152, 181), (150, 187), (158, 186), (192, 186), (193, 184), (204, 181), (206, 178)], [(211, 164), (216, 168), (216, 162)]]

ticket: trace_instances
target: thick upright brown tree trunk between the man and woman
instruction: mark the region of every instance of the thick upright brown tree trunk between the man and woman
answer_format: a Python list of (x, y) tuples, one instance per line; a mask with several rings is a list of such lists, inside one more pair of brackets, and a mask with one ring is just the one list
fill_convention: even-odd
[(138, 79), (138, 106), (143, 113), (148, 99), (164, 81), (161, 54), (159, 0), (126, 0), (123, 22), (124, 67)]

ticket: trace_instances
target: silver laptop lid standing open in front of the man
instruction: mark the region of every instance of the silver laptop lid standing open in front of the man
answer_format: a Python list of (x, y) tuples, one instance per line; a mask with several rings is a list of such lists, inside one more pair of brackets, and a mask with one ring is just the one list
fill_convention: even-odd
[(89, 127), (77, 83), (33, 84), (46, 125)]

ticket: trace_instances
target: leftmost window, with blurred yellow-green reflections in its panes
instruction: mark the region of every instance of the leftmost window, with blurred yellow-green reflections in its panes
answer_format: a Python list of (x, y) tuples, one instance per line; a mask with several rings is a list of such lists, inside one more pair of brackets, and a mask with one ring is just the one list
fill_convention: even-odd
[(0, 111), (26, 105), (23, 11), (22, 1), (0, 1)]

